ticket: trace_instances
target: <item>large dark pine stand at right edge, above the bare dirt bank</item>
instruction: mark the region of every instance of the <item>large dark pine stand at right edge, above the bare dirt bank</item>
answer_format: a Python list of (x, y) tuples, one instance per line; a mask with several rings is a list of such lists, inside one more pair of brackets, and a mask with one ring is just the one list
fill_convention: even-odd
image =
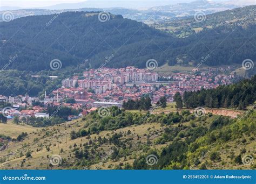
[[(246, 109), (256, 101), (256, 75), (230, 86), (200, 91), (185, 91), (183, 104), (186, 108), (238, 108)], [(180, 103), (180, 100), (179, 100)]]

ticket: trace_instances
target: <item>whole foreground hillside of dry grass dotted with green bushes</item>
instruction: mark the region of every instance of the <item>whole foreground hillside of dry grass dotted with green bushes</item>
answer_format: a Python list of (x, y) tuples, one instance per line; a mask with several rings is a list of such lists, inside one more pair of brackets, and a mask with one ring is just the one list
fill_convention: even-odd
[[(108, 109), (4, 141), (1, 169), (253, 169), (256, 112), (237, 119), (188, 111), (146, 115)], [(10, 122), (5, 125), (14, 127)], [(15, 125), (22, 128), (23, 125)], [(11, 138), (19, 133), (3, 132)], [(3, 137), (3, 136), (2, 136)], [(4, 138), (5, 139), (5, 138)], [(56, 156), (57, 155), (57, 156)], [(146, 157), (158, 161), (146, 164)], [(55, 157), (57, 164), (50, 158)], [(59, 161), (61, 160), (61, 161)], [(198, 161), (199, 160), (199, 161)]]

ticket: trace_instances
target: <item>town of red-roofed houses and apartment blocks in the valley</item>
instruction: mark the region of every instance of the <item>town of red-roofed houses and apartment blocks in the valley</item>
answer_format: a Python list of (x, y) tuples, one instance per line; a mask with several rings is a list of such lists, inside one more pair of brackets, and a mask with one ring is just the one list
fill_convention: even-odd
[[(159, 75), (149, 69), (135, 67), (98, 68), (83, 72), (83, 76), (72, 76), (62, 81), (62, 87), (45, 91), (44, 99), (26, 96), (0, 96), (1, 102), (10, 103), (8, 118), (52, 117), (49, 107), (66, 107), (76, 110), (66, 120), (86, 116), (100, 107), (117, 106), (122, 108), (125, 101), (139, 100), (149, 95), (151, 103), (156, 104), (165, 96), (167, 102), (173, 102), (173, 96), (179, 92), (196, 91), (201, 88), (212, 89), (219, 85), (231, 84), (234, 74), (218, 74), (213, 69), (196, 73), (176, 73)], [(49, 93), (49, 94), (48, 94)], [(6, 109), (2, 109), (4, 111)]]

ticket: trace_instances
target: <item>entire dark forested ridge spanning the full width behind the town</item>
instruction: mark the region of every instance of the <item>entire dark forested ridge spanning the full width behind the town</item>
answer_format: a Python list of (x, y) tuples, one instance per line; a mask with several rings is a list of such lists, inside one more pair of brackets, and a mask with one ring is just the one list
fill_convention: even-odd
[(188, 61), (199, 63), (208, 54), (205, 64), (210, 66), (256, 59), (255, 24), (224, 25), (179, 39), (122, 16), (99, 19), (98, 15), (65, 12), (0, 23), (0, 67), (38, 71), (51, 69), (50, 61), (59, 59), (62, 68), (81, 64), (145, 68), (149, 59), (157, 60), (158, 66), (166, 62), (186, 65)]

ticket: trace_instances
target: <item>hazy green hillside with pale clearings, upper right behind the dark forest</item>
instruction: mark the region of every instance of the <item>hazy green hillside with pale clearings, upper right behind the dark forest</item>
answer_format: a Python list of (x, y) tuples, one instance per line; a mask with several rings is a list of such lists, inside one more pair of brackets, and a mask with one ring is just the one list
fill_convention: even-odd
[(159, 21), (153, 26), (159, 30), (172, 33), (173, 36), (187, 37), (193, 33), (197, 33), (203, 29), (214, 29), (218, 26), (246, 26), (255, 23), (256, 5), (245, 6), (244, 8), (236, 8), (225, 10), (217, 13), (206, 15), (203, 11), (193, 11), (191, 17), (180, 17), (169, 20)]

